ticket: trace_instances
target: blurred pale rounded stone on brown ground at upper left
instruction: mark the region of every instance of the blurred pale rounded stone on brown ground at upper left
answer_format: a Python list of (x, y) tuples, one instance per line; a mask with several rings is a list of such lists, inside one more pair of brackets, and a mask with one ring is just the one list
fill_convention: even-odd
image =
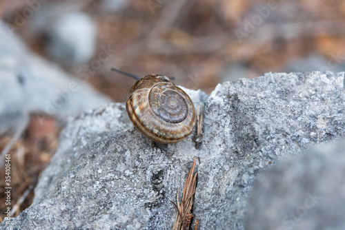
[(97, 27), (81, 6), (45, 4), (30, 24), (30, 32), (43, 38), (48, 58), (67, 68), (87, 63), (95, 53)]

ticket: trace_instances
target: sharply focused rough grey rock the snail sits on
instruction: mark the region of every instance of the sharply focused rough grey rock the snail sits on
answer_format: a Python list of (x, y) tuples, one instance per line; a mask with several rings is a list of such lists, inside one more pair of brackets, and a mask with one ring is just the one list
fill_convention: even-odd
[[(159, 148), (130, 123), (122, 103), (69, 121), (31, 207), (14, 229), (171, 229), (197, 156), (199, 229), (244, 229), (257, 174), (284, 158), (345, 136), (344, 72), (277, 73), (217, 85), (206, 96), (204, 143)], [(317, 173), (317, 172), (315, 172)], [(193, 220), (193, 223), (195, 220)]]

